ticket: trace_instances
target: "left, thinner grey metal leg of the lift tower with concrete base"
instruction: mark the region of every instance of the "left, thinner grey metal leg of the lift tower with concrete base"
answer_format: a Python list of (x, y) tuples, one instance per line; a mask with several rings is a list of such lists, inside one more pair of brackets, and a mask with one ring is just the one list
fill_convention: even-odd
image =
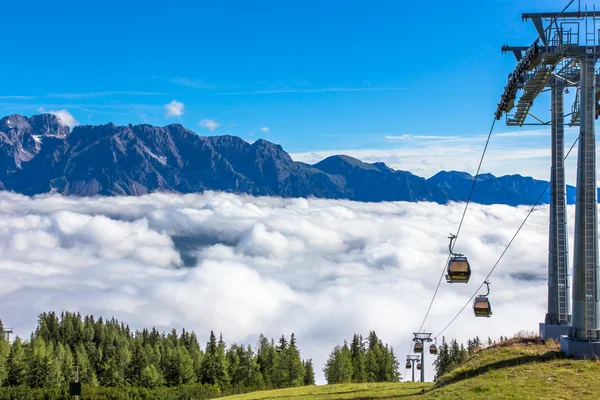
[(564, 84), (552, 85), (552, 169), (550, 174), (550, 235), (548, 243), (548, 312), (540, 324), (543, 339), (560, 340), (569, 333), (571, 293), (569, 290), (568, 234), (564, 166)]

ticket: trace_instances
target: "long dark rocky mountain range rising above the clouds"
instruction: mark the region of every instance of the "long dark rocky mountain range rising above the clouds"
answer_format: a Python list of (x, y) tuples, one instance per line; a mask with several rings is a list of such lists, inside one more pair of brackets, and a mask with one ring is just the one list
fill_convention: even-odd
[[(473, 176), (442, 171), (424, 179), (383, 163), (338, 155), (309, 165), (263, 139), (202, 137), (179, 124), (76, 126), (51, 114), (0, 119), (0, 189), (27, 195), (142, 195), (219, 190), (356, 201), (464, 201)], [(477, 178), (472, 200), (534, 204), (547, 182), (520, 175)], [(542, 203), (549, 202), (549, 192)], [(567, 187), (575, 202), (575, 188)]]

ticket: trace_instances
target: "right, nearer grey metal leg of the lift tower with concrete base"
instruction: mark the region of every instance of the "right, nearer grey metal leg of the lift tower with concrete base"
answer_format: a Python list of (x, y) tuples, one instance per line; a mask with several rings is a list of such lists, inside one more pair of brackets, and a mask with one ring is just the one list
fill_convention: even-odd
[(600, 356), (594, 67), (593, 54), (582, 59), (573, 261), (573, 325), (568, 338), (561, 337), (561, 350), (578, 357)]

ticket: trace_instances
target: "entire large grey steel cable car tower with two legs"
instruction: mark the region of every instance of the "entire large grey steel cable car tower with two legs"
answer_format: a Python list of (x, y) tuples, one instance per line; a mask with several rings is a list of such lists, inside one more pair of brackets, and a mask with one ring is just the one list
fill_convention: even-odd
[[(524, 13), (539, 37), (530, 46), (503, 46), (517, 66), (509, 75), (495, 113), (506, 115), (506, 125), (550, 125), (551, 178), (548, 248), (548, 310), (540, 324), (544, 339), (560, 339), (568, 355), (600, 355), (600, 296), (598, 276), (598, 217), (595, 120), (600, 115), (598, 70), (600, 12)], [(544, 25), (547, 25), (544, 28)], [(565, 114), (563, 93), (576, 90), (575, 102)], [(517, 92), (522, 93), (517, 100)], [(551, 92), (551, 119), (531, 113), (542, 93)], [(509, 114), (513, 111), (513, 114)], [(528, 122), (528, 117), (534, 121)], [(573, 293), (569, 285), (569, 254), (564, 171), (564, 120), (579, 126), (577, 203), (573, 257)]]

